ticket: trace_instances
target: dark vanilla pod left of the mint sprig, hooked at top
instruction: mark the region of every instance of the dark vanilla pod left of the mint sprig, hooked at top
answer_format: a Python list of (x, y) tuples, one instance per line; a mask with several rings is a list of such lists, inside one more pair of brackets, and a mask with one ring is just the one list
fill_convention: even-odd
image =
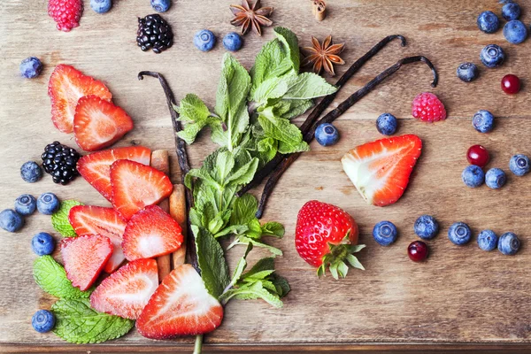
[[(177, 133), (179, 133), (182, 130), (182, 125), (181, 125), (181, 122), (178, 120), (179, 118), (178, 113), (173, 109), (173, 107), (177, 105), (177, 103), (175, 102), (175, 96), (173, 96), (172, 89), (170, 89), (168, 82), (165, 81), (165, 78), (161, 73), (143, 71), (143, 72), (138, 73), (138, 80), (143, 80), (144, 76), (150, 76), (150, 77), (158, 79), (158, 81), (160, 82), (160, 86), (162, 86), (162, 89), (164, 90), (166, 104), (168, 105), (168, 110), (170, 111), (170, 115), (172, 117), (175, 151), (177, 153), (177, 159), (179, 161), (179, 168), (181, 170), (181, 183), (184, 184), (184, 177), (186, 176), (187, 173), (189, 173), (190, 165), (189, 165), (188, 154), (186, 152), (186, 142), (184, 142), (177, 135)], [(193, 206), (194, 206), (194, 195), (192, 193), (192, 190), (187, 188), (186, 189), (186, 211), (187, 211), (189, 230), (191, 230), (191, 228), (190, 228), (190, 222), (189, 222), (188, 216), (189, 216), (190, 208)], [(196, 267), (197, 269), (196, 240), (192, 232), (189, 232), (188, 237), (189, 239), (187, 240), (187, 245), (188, 245), (187, 250), (188, 250), (190, 264)]]

